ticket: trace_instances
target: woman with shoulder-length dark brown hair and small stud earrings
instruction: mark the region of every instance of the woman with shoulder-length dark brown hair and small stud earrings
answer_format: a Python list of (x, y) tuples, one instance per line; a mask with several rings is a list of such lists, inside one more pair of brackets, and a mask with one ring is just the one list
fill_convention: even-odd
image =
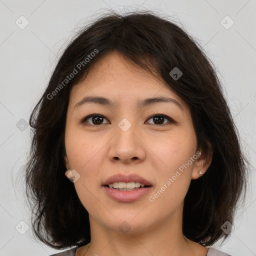
[(246, 159), (213, 65), (173, 22), (85, 27), (30, 125), (33, 231), (75, 245), (54, 255), (228, 255), (210, 245), (231, 232)]

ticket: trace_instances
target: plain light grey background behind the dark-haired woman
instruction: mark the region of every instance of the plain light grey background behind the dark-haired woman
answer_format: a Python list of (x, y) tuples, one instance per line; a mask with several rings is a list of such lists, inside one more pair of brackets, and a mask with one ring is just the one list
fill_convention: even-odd
[[(15, 228), (22, 231), (24, 223), (20, 221), (30, 223), (24, 179), (19, 174), (30, 146), (30, 127), (22, 127), (20, 119), (28, 122), (57, 56), (71, 36), (86, 21), (109, 9), (151, 9), (172, 15), (198, 39), (217, 67), (244, 150), (254, 167), (233, 232), (222, 246), (215, 247), (232, 256), (256, 255), (255, 0), (0, 0), (0, 256), (56, 252), (36, 241), (31, 228), (24, 234)], [(20, 26), (26, 20), (21, 15), (29, 22), (23, 29)]]

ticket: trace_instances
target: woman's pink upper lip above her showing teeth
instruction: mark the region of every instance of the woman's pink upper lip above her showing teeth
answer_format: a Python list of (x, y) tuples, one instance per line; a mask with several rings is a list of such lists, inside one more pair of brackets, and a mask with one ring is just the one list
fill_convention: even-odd
[(112, 175), (103, 182), (102, 186), (107, 186), (114, 182), (126, 182), (127, 183), (127, 182), (132, 182), (132, 181), (145, 184), (146, 186), (152, 186), (152, 184), (148, 180), (142, 178), (141, 176), (139, 176), (137, 174), (129, 174), (127, 176), (125, 176), (123, 174)]

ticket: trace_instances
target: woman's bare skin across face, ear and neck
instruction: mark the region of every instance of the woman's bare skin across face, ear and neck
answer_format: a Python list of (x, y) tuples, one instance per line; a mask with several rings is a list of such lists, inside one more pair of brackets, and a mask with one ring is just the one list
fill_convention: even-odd
[[(86, 95), (107, 97), (114, 106), (87, 103), (74, 108)], [(170, 102), (136, 107), (137, 100), (155, 96), (171, 97), (183, 110)], [(92, 113), (104, 116), (101, 124), (91, 117), (80, 123)], [(152, 114), (164, 114), (176, 123), (164, 118), (163, 124), (157, 124), (149, 119)], [(125, 132), (118, 126), (123, 118), (131, 124)], [(203, 175), (212, 154), (206, 160), (201, 152), (154, 202), (149, 201), (149, 196), (199, 150), (187, 103), (160, 78), (117, 51), (101, 58), (71, 89), (65, 149), (66, 168), (80, 175), (73, 184), (90, 221), (91, 242), (89, 247), (80, 247), (76, 256), (206, 255), (206, 247), (183, 236), (182, 210), (191, 179), (201, 176), (199, 170)], [(117, 202), (101, 186), (116, 173), (136, 173), (152, 183), (152, 191), (133, 202)], [(130, 226), (127, 233), (118, 228), (124, 220)]]

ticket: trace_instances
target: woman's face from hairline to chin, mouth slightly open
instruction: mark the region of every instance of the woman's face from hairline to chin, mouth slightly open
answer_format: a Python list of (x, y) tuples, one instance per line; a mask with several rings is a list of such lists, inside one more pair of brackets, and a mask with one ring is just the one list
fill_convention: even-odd
[[(82, 103), (88, 96), (105, 97), (110, 104)], [(137, 105), (154, 97), (171, 100)], [(71, 89), (65, 148), (66, 167), (75, 172), (74, 186), (90, 221), (116, 231), (147, 230), (174, 219), (180, 223), (190, 180), (205, 171), (187, 103), (116, 51)], [(152, 186), (135, 189), (146, 192), (134, 199), (134, 191), (102, 185), (114, 174), (137, 174)], [(115, 196), (127, 192), (131, 197), (113, 198), (109, 189)]]

